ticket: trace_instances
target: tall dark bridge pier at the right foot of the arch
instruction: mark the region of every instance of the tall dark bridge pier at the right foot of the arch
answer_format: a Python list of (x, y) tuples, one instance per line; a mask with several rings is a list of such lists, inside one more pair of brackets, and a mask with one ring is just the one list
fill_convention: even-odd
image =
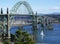
[(37, 38), (37, 12), (35, 15), (33, 15), (33, 18), (32, 18), (32, 27), (33, 27), (33, 40), (36, 41), (36, 38)]

